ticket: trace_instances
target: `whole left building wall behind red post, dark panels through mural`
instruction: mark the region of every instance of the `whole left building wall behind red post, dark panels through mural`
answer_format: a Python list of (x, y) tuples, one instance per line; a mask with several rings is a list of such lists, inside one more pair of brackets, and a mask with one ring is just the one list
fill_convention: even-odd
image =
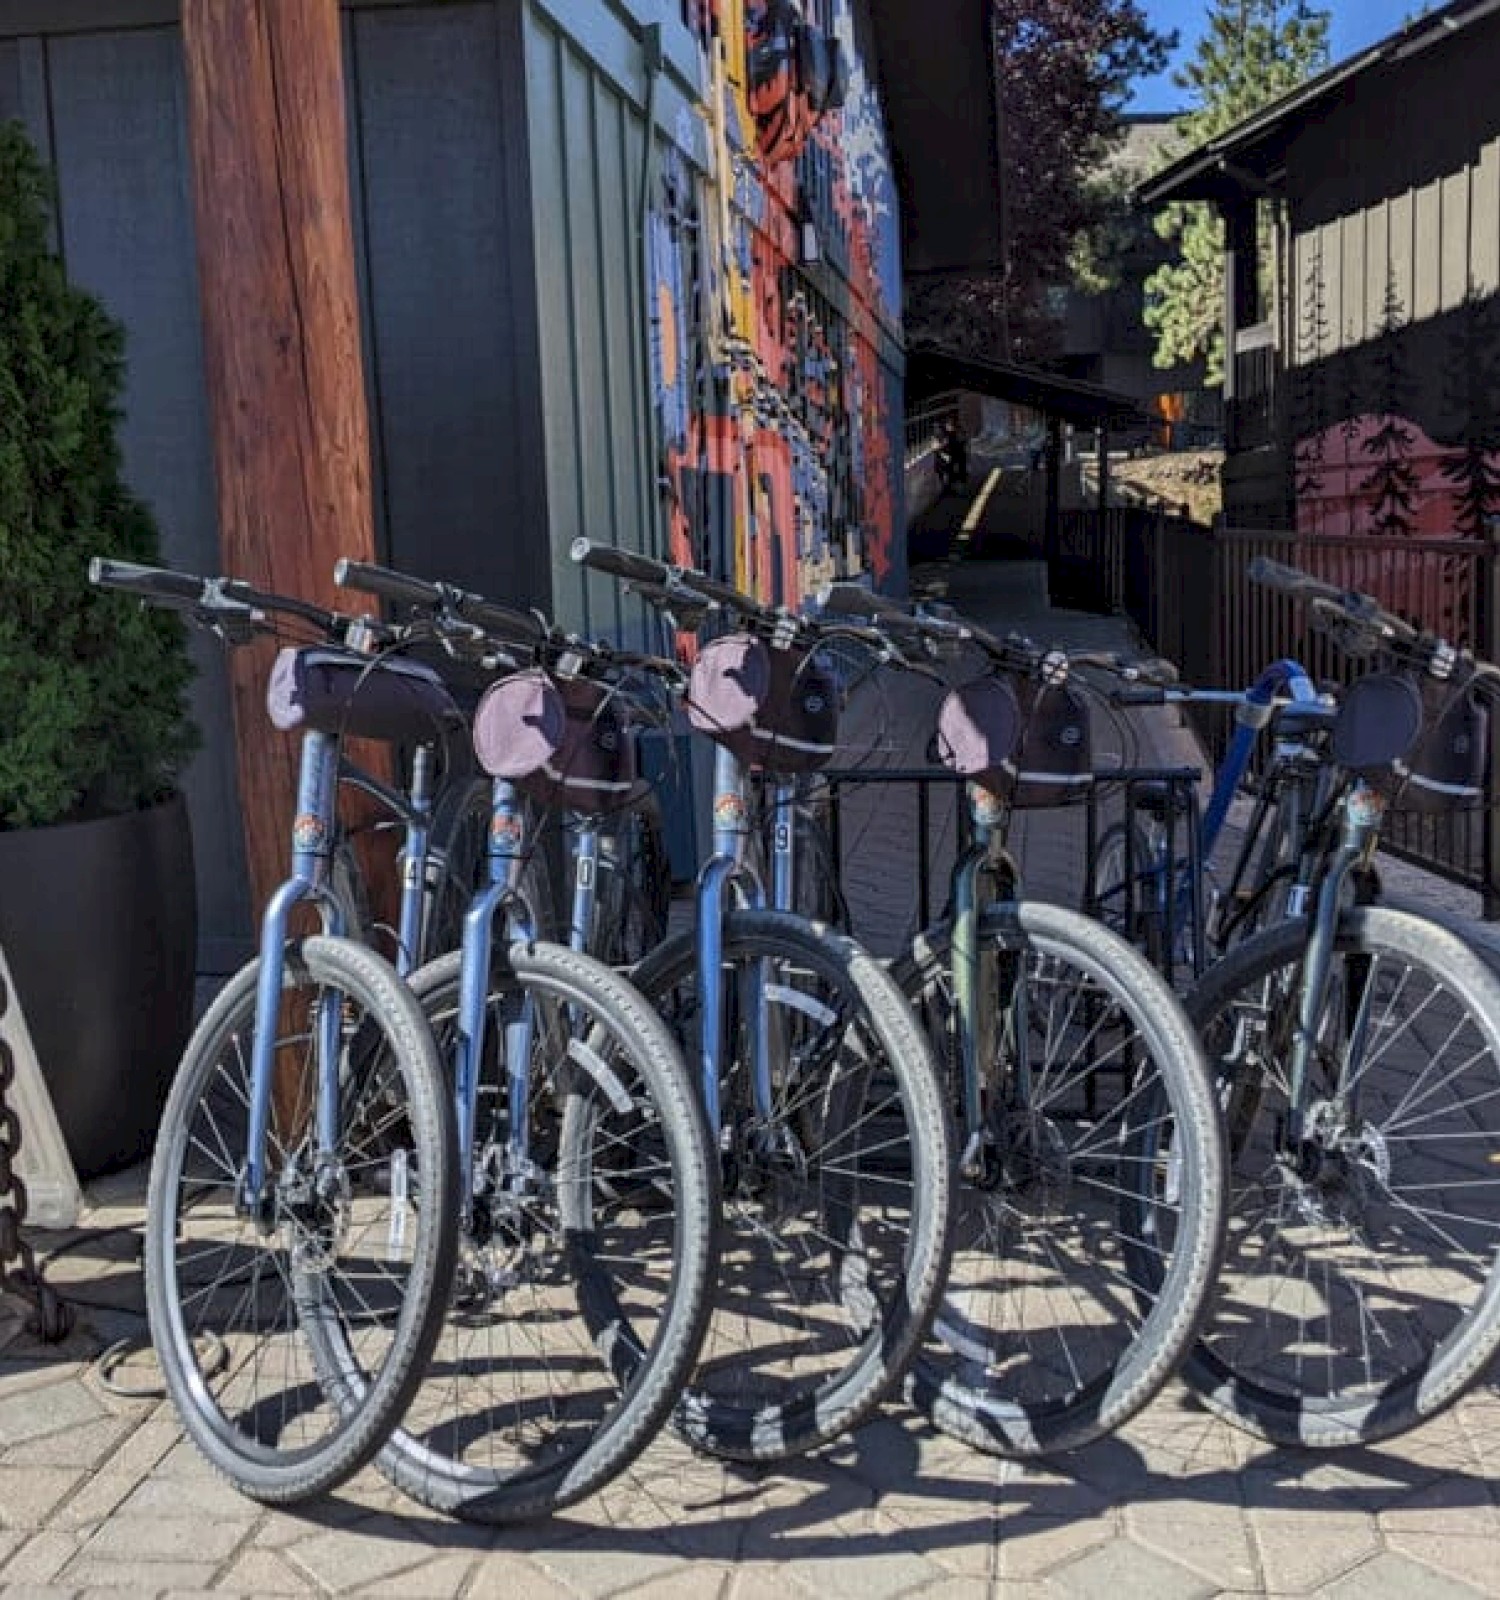
[[(849, 104), (766, 163), (745, 0), (345, 0), (387, 560), (624, 635), (648, 619), (571, 563), (579, 533), (787, 600), (835, 571), (902, 582), (889, 160), (862, 21), (811, 11)], [(125, 323), (125, 464), (163, 557), (217, 571), (176, 0), (0, 0), (0, 117), (54, 163), (69, 272)], [(217, 646), (193, 648), (201, 960), (227, 970), (251, 933), (233, 733)]]

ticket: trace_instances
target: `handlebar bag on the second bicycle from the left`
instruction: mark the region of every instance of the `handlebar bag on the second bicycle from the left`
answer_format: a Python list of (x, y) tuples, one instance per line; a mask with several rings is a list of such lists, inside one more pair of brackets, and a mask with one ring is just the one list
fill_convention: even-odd
[(537, 667), (485, 691), (473, 715), (473, 754), (544, 806), (601, 814), (635, 803), (635, 730), (617, 694), (590, 678), (553, 678)]

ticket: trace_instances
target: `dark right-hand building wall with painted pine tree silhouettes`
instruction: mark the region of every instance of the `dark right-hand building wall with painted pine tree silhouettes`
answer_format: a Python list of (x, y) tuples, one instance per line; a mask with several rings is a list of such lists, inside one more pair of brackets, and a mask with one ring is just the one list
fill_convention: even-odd
[(1492, 18), (1354, 80), (1289, 149), (1305, 530), (1478, 534), (1500, 514), (1497, 70)]

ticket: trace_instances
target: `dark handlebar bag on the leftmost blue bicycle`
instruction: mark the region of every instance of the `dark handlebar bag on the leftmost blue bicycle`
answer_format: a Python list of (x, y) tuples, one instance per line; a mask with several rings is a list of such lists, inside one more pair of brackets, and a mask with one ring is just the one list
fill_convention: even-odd
[(425, 744), (459, 720), (432, 667), (326, 645), (288, 646), (277, 654), (265, 714), (283, 733), (305, 728), (385, 744)]

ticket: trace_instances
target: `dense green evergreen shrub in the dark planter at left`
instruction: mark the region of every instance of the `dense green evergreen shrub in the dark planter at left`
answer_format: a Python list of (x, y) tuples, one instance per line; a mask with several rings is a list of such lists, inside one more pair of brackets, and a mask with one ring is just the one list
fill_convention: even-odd
[(158, 800), (195, 742), (181, 622), (88, 582), (91, 555), (157, 562), (157, 530), (120, 477), (123, 334), (69, 285), (50, 194), (0, 123), (0, 827)]

